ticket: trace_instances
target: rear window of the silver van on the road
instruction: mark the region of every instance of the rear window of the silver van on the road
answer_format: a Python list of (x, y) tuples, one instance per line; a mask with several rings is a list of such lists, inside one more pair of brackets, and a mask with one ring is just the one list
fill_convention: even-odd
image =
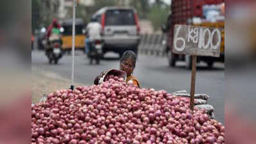
[(133, 10), (107, 10), (105, 26), (135, 25)]

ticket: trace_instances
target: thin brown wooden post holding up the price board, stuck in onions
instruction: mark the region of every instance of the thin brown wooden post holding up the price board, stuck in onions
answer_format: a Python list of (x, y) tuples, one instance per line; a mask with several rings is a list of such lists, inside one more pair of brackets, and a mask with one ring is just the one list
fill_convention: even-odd
[(190, 86), (190, 110), (194, 109), (194, 95), (196, 85), (196, 56), (192, 56), (192, 75), (191, 75), (191, 86)]

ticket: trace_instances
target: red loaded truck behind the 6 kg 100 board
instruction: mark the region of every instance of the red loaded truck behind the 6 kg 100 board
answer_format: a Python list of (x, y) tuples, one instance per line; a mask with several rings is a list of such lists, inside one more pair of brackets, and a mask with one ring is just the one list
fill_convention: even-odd
[(224, 63), (224, 0), (172, 0), (170, 4), (170, 15), (166, 26), (162, 31), (167, 34), (167, 58), (170, 67), (176, 66), (176, 61), (185, 61), (186, 67), (192, 68), (192, 57), (172, 52), (172, 41), (174, 37), (174, 26), (176, 24), (190, 26), (204, 26), (221, 29), (221, 53), (220, 57), (198, 56), (197, 62), (204, 61), (212, 68), (215, 61)]

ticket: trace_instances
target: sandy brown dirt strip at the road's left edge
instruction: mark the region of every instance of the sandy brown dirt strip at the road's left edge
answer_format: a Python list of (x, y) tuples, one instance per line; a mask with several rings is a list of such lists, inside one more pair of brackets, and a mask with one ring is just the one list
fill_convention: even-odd
[[(70, 79), (65, 79), (54, 72), (32, 67), (32, 102), (39, 102), (44, 94), (48, 95), (55, 90), (69, 89), (70, 85)], [(74, 83), (75, 88), (83, 85), (88, 84)]]

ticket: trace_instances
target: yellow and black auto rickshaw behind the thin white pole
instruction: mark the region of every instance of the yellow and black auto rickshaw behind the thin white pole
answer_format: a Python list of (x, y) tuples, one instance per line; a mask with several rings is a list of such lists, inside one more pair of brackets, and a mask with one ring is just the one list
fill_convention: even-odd
[[(73, 20), (63, 20), (61, 24), (62, 28), (60, 31), (62, 32), (62, 49), (64, 51), (71, 52), (72, 49), (72, 28), (73, 28)], [(86, 38), (86, 25), (84, 24), (82, 19), (76, 19), (75, 22), (75, 49), (80, 49), (84, 51), (84, 40)]]

